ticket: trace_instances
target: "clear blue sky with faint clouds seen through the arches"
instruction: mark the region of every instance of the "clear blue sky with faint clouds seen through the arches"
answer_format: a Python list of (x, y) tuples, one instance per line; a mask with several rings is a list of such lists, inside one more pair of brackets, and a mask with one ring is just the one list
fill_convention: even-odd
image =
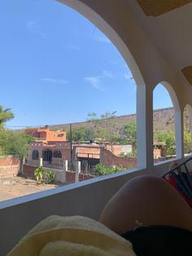
[[(136, 85), (116, 47), (55, 0), (0, 1), (0, 104), (7, 126), (40, 126), (135, 113)], [(155, 108), (170, 106), (160, 89)], [(155, 96), (156, 97), (156, 96)]]

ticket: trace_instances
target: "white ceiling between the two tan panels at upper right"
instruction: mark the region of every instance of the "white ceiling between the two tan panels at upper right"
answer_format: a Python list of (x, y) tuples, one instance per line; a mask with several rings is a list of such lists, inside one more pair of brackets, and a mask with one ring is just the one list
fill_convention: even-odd
[(136, 0), (127, 0), (155, 46), (172, 66), (192, 65), (192, 3), (158, 17), (146, 16)]

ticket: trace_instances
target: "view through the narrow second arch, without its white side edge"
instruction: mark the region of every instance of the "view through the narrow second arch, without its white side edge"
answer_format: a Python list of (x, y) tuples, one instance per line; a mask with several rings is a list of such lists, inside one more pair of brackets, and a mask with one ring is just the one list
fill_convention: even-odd
[(153, 130), (154, 161), (176, 157), (175, 108), (162, 84), (153, 91)]

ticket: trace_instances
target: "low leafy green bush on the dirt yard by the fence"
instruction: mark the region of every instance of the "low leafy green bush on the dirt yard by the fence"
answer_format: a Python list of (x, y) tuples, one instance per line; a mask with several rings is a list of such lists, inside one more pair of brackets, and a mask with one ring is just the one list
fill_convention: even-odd
[(45, 170), (42, 166), (39, 166), (35, 172), (34, 172), (35, 179), (37, 180), (37, 183), (52, 183), (55, 174), (52, 172), (52, 170)]

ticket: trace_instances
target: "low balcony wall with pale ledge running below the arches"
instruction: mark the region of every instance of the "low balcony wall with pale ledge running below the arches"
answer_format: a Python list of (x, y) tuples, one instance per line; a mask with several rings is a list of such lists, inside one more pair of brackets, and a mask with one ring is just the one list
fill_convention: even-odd
[(151, 170), (125, 170), (0, 202), (0, 219), (3, 220), (0, 255), (7, 254), (29, 229), (51, 214), (84, 215), (98, 219), (104, 205), (126, 181), (142, 174), (160, 176), (168, 170), (169, 162)]

